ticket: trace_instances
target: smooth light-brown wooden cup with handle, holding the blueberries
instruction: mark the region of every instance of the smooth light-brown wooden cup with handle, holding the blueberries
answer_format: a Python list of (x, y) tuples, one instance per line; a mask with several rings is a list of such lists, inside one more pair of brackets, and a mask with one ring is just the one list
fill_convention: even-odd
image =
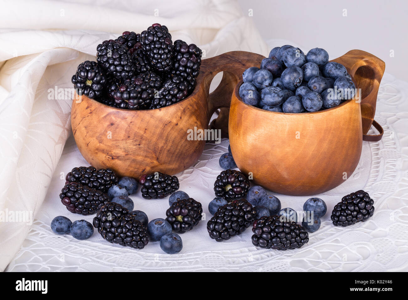
[(238, 94), (242, 81), (235, 87), (229, 116), (231, 151), (238, 168), (251, 172), (255, 184), (286, 195), (323, 193), (351, 176), (361, 156), (363, 134), (364, 140), (381, 138), (381, 127), (377, 136), (366, 133), (373, 124), (385, 63), (361, 50), (334, 61), (344, 64), (361, 89), (361, 103), (352, 99), (323, 111), (278, 113), (245, 104)]

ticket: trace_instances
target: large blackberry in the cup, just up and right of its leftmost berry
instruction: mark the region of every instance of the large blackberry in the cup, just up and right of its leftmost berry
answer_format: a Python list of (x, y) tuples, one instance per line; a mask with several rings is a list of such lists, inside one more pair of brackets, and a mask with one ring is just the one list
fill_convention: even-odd
[(113, 77), (125, 80), (134, 75), (133, 61), (126, 46), (106, 40), (96, 48), (96, 60)]

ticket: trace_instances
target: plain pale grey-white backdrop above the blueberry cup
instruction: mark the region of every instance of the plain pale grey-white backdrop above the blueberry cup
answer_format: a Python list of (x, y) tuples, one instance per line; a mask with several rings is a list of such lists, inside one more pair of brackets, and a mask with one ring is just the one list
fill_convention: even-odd
[(239, 4), (246, 16), (248, 9), (253, 10), (253, 22), (264, 40), (292, 40), (305, 53), (324, 48), (330, 59), (352, 49), (364, 50), (384, 60), (386, 72), (408, 81), (406, 0), (239, 0)]

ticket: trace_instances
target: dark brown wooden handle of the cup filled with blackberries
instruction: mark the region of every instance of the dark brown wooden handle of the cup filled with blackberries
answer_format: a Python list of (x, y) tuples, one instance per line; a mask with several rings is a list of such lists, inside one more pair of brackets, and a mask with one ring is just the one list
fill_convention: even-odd
[[(211, 129), (221, 129), (222, 137), (228, 137), (228, 117), (231, 96), (242, 73), (249, 67), (259, 67), (264, 56), (246, 51), (231, 51), (202, 61), (200, 73), (208, 99), (208, 115), (220, 109), (220, 114), (210, 124)], [(210, 84), (217, 73), (223, 72), (218, 87), (210, 94)]]

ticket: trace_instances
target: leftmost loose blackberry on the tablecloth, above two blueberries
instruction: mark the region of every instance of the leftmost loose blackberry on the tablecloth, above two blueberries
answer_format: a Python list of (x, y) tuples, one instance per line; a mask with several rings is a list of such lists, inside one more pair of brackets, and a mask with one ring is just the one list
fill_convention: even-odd
[(65, 184), (60, 199), (71, 213), (80, 213), (84, 216), (95, 213), (103, 204), (110, 201), (102, 191), (78, 182)]

